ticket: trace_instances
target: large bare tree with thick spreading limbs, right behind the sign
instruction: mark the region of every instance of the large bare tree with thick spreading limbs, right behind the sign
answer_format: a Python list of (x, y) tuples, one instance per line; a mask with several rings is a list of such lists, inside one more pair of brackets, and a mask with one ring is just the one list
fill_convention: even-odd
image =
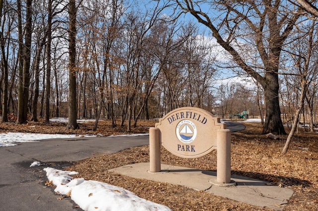
[[(275, 2), (261, 0), (258, 4), (254, 1), (176, 0), (176, 2), (183, 12), (190, 13), (208, 27), (213, 37), (231, 54), (236, 64), (263, 87), (266, 118), (262, 133), (285, 134), (278, 97), (280, 54), (301, 13), (287, 11), (287, 7), (281, 5), (280, 0)], [(219, 19), (210, 17), (209, 13), (204, 12), (206, 9), (200, 8), (200, 5), (205, 7), (209, 5), (210, 9), (215, 9), (216, 12), (223, 11), (224, 15), (220, 15)], [(285, 11), (282, 10), (283, 7)], [(237, 38), (243, 39), (240, 29), (247, 29), (246, 26), (253, 35), (252, 39), (264, 69), (263, 75), (248, 64), (239, 47), (235, 48), (239, 45)]]

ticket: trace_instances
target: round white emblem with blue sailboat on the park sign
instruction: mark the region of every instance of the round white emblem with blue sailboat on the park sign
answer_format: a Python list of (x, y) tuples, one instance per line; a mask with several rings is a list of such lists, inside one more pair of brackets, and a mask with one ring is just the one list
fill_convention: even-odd
[(178, 123), (175, 133), (181, 142), (189, 144), (196, 138), (197, 128), (192, 121), (185, 119)]

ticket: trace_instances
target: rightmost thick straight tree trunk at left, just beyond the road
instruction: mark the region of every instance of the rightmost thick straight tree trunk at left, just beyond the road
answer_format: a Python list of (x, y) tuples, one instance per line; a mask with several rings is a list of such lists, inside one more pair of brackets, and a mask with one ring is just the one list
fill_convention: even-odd
[(69, 4), (69, 122), (68, 129), (77, 129), (77, 106), (76, 106), (76, 5), (75, 0)]

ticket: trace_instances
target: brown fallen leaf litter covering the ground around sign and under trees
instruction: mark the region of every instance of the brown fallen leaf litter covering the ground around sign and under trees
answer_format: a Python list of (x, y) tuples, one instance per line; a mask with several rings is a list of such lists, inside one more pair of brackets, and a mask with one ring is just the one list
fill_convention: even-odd
[[(91, 128), (94, 122), (80, 123), (80, 129), (67, 130), (66, 123), (29, 122), (17, 125), (13, 122), (0, 123), (1, 132), (41, 132), (63, 134), (127, 134), (127, 127), (111, 127), (110, 121), (100, 121), (98, 129)], [(140, 121), (130, 133), (145, 133), (155, 121)], [(295, 135), (286, 155), (281, 150), (287, 135), (280, 141), (261, 135), (260, 123), (244, 123), (246, 129), (232, 133), (232, 174), (265, 180), (281, 188), (291, 188), (294, 195), (283, 207), (285, 211), (318, 210), (318, 133), (300, 129)], [(119, 125), (119, 123), (117, 124)], [(289, 132), (289, 129), (286, 129)], [(161, 149), (161, 163), (179, 165), (202, 170), (216, 170), (217, 153), (213, 151), (201, 158), (176, 157)], [(103, 155), (81, 160), (68, 170), (78, 171), (77, 177), (98, 180), (123, 187), (138, 196), (168, 206), (174, 211), (246, 211), (271, 210), (237, 202), (213, 194), (196, 191), (183, 186), (159, 183), (145, 179), (108, 172), (108, 169), (126, 164), (149, 162), (149, 146), (136, 147), (116, 154)]]

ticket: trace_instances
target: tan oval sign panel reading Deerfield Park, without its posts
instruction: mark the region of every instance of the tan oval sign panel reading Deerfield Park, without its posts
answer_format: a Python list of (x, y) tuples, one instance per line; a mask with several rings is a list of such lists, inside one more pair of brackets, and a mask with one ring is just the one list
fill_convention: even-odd
[(180, 107), (159, 119), (161, 145), (182, 158), (198, 158), (217, 147), (219, 129), (226, 129), (220, 118), (201, 108)]

